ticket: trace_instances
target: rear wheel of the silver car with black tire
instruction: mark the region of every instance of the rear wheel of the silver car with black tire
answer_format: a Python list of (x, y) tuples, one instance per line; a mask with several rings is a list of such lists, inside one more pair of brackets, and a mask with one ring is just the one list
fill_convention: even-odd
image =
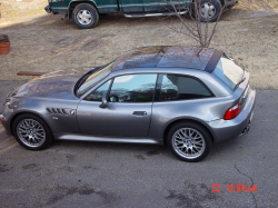
[(172, 153), (180, 160), (196, 162), (208, 156), (212, 147), (212, 139), (207, 129), (201, 125), (182, 121), (170, 128), (167, 143)]

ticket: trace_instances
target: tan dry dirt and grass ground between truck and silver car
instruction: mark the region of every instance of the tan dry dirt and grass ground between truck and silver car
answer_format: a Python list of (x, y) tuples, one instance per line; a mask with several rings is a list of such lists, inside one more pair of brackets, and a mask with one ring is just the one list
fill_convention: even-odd
[[(90, 30), (78, 29), (62, 16), (48, 14), (47, 1), (0, 0), (0, 33), (11, 41), (0, 56), (0, 80), (30, 79), (18, 71), (53, 71), (105, 65), (127, 50), (146, 46), (191, 46), (192, 40), (168, 26), (176, 17), (126, 19), (101, 16)], [(226, 11), (210, 44), (241, 61), (259, 89), (278, 89), (278, 1), (242, 0)]]

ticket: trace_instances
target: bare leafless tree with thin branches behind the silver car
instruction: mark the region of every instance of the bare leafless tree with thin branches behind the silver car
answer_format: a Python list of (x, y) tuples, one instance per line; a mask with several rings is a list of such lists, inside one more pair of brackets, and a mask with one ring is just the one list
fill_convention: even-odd
[(171, 12), (181, 22), (180, 27), (171, 26), (171, 29), (193, 39), (201, 48), (209, 47), (225, 4), (219, 0), (162, 1), (166, 3), (165, 10)]

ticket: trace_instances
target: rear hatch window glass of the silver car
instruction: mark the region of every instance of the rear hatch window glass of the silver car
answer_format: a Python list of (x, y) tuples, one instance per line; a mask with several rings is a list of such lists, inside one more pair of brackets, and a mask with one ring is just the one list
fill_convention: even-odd
[(237, 83), (241, 81), (244, 73), (245, 70), (225, 53), (212, 71), (212, 75), (219, 78), (231, 90), (235, 90)]

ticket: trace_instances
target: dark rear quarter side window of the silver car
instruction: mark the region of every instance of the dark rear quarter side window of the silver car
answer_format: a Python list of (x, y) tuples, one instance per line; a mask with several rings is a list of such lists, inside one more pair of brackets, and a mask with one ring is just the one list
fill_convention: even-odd
[(165, 75), (159, 100), (188, 100), (208, 98), (212, 95), (197, 79), (183, 76)]

